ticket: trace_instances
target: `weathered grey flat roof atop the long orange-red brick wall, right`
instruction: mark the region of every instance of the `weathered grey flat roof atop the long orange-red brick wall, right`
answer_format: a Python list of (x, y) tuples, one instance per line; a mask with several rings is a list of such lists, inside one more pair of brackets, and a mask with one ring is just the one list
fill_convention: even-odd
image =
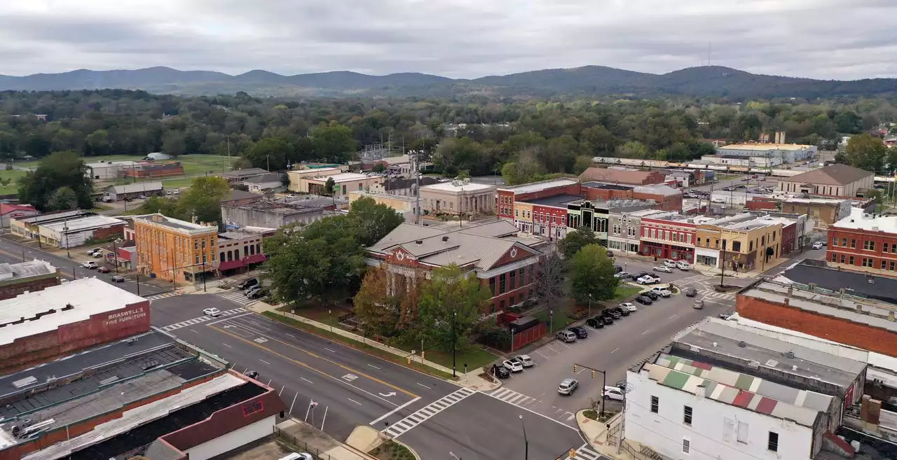
[(754, 283), (738, 291), (738, 294), (778, 304), (784, 304), (788, 299), (788, 305), (792, 308), (897, 332), (897, 323), (888, 320), (895, 309), (890, 302), (853, 296), (841, 298), (829, 292), (806, 291), (769, 281)]

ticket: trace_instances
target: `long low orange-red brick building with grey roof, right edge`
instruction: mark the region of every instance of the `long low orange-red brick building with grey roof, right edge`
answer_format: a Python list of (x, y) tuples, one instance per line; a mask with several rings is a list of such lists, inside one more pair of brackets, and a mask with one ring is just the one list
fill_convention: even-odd
[(738, 316), (897, 357), (893, 304), (758, 281), (736, 296)]

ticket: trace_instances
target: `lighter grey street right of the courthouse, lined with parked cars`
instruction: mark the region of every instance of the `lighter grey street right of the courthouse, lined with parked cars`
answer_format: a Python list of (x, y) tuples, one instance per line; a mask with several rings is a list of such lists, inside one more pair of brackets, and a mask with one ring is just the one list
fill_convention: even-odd
[[(630, 273), (651, 271), (654, 266), (649, 261), (622, 257), (617, 263), (624, 265)], [(651, 305), (635, 304), (637, 311), (616, 319), (612, 325), (600, 329), (584, 325), (587, 338), (573, 343), (554, 340), (528, 352), (535, 365), (512, 373), (499, 389), (488, 392), (488, 395), (575, 427), (574, 414), (592, 401), (600, 402), (603, 383), (616, 386), (617, 382), (625, 380), (626, 369), (661, 349), (670, 342), (673, 334), (702, 317), (717, 316), (733, 309), (734, 295), (712, 291), (710, 284), (714, 279), (710, 277), (680, 270), (658, 274), (664, 283), (692, 287), (698, 295), (690, 298), (675, 290), (669, 298), (658, 299)], [(692, 308), (694, 299), (704, 299), (704, 308)], [(598, 313), (599, 308), (596, 308), (592, 314)], [(574, 364), (577, 365), (575, 371)], [(591, 369), (597, 369), (594, 377)], [(564, 378), (575, 378), (579, 382), (579, 388), (572, 395), (561, 395), (557, 391)], [(610, 410), (618, 409), (621, 404), (606, 401), (605, 405)]]

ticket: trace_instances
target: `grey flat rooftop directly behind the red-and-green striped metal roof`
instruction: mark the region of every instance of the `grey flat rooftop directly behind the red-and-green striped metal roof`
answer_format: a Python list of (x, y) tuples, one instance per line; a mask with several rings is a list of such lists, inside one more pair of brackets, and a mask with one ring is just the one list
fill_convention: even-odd
[(686, 351), (701, 357), (731, 358), (743, 363), (744, 369), (738, 369), (741, 372), (751, 369), (753, 363), (756, 369), (774, 369), (795, 387), (818, 380), (846, 391), (866, 369), (865, 362), (754, 334), (712, 317), (677, 334), (673, 343), (678, 350), (674, 354)]

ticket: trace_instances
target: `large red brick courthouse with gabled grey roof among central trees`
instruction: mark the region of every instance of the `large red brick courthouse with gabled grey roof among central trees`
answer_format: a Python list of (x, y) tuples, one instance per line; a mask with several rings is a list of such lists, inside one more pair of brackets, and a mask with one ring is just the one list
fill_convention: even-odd
[(489, 311), (504, 311), (536, 295), (536, 273), (544, 242), (525, 244), (509, 221), (438, 229), (403, 223), (368, 248), (370, 265), (383, 265), (391, 289), (409, 290), (435, 268), (458, 265), (492, 291)]

